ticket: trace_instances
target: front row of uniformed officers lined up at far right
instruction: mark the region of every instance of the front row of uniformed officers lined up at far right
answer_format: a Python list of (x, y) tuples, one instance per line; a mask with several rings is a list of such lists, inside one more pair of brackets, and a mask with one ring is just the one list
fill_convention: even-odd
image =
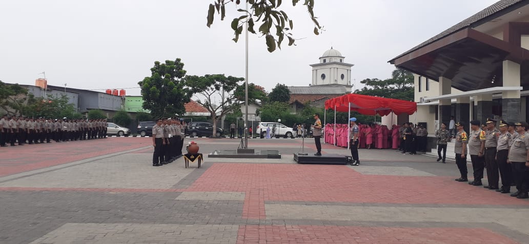
[[(524, 121), (507, 123), (487, 119), (486, 126), (480, 121), (470, 121), (470, 133), (464, 130), (462, 123), (456, 123), (458, 133), (455, 135), (455, 160), (461, 177), (455, 179), (467, 182), (467, 145), (472, 162), (474, 180), (470, 185), (482, 185), (481, 179), (487, 168), (488, 185), (484, 187), (500, 193), (510, 193), (510, 187), (516, 186), (516, 192), (510, 196), (529, 198), (529, 125)], [(501, 179), (501, 187), (499, 180)]]

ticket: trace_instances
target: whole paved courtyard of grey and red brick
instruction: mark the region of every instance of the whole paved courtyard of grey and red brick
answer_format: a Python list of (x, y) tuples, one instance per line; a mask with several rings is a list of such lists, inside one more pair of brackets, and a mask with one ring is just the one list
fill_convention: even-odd
[(152, 167), (150, 138), (3, 147), (0, 243), (529, 243), (529, 201), (455, 182), (452, 161), (362, 149), (360, 166), (299, 165), (300, 143), (250, 139), (282, 158), (201, 168)]

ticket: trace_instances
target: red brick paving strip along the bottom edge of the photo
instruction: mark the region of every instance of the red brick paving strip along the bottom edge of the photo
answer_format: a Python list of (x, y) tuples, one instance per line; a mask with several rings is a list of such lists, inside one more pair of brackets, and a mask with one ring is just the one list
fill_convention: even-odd
[(486, 229), (351, 226), (241, 226), (236, 243), (516, 243)]

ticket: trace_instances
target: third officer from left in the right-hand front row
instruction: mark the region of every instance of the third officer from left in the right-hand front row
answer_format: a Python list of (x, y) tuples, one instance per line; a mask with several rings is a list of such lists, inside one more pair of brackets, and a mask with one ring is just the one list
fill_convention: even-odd
[(496, 128), (496, 120), (487, 118), (487, 132), (485, 140), (485, 165), (487, 167), (487, 180), (489, 185), (483, 186), (489, 190), (498, 190), (499, 171), (496, 162), (499, 130)]

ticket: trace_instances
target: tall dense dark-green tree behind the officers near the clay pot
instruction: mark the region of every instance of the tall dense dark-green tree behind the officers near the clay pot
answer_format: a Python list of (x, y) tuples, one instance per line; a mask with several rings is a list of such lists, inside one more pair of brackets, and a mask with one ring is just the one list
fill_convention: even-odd
[(189, 102), (191, 92), (183, 80), (186, 71), (180, 59), (154, 62), (151, 77), (138, 82), (143, 97), (143, 108), (150, 110), (153, 117), (174, 117), (184, 114), (184, 104)]

